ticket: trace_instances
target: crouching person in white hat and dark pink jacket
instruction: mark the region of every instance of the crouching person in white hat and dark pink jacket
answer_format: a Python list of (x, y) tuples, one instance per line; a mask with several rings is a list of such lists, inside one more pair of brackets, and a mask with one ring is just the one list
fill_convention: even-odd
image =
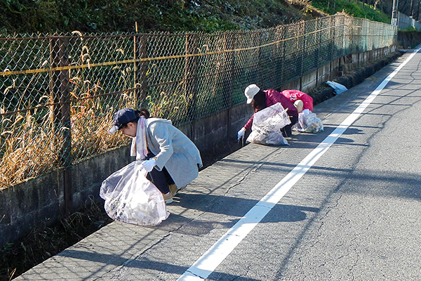
[[(288, 98), (279, 93), (279, 91), (275, 91), (274, 89), (262, 91), (255, 84), (247, 86), (247, 88), (244, 90), (244, 95), (246, 95), (247, 103), (251, 103), (251, 106), (255, 112), (274, 105), (275, 103), (281, 103), (283, 108), (288, 108), (287, 112), (291, 124), (284, 126), (281, 131), (284, 137), (292, 136), (291, 127), (298, 121), (298, 110)], [(241, 130), (237, 133), (238, 139), (243, 138), (246, 130), (251, 129), (251, 125), (253, 124), (253, 116), (254, 115), (250, 117), (246, 125), (244, 125), (243, 128), (241, 128)]]

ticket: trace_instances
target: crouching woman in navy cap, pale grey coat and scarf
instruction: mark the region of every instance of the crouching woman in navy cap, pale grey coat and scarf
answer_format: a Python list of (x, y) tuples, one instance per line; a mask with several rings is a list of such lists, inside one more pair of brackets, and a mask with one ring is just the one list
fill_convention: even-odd
[(173, 202), (173, 195), (199, 174), (202, 162), (196, 145), (171, 120), (149, 118), (145, 109), (123, 108), (114, 113), (113, 119), (109, 133), (121, 131), (133, 138), (131, 155), (144, 160), (142, 166), (149, 181), (167, 204)]

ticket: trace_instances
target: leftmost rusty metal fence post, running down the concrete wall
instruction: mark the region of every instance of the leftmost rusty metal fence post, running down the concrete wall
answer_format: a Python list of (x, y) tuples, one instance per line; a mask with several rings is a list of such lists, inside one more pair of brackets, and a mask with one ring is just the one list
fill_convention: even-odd
[[(51, 67), (65, 67), (69, 65), (68, 44), (69, 39), (67, 37), (51, 38)], [(54, 100), (53, 122), (55, 124), (55, 133), (59, 136), (60, 156), (58, 162), (63, 171), (65, 216), (69, 216), (73, 212), (69, 70), (55, 70), (51, 72), (50, 91)]]

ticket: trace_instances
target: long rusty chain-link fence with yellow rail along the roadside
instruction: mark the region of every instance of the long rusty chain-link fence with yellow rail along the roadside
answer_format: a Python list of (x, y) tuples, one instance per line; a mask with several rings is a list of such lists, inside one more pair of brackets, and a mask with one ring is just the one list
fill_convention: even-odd
[(0, 38), (0, 189), (126, 145), (107, 133), (121, 107), (173, 124), (243, 103), (349, 53), (391, 46), (396, 27), (334, 15), (215, 34)]

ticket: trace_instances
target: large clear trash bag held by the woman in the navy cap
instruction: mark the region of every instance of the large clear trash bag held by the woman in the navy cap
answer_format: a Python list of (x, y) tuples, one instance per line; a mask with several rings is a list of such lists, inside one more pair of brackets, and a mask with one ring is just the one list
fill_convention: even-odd
[(100, 197), (107, 215), (115, 221), (156, 226), (168, 218), (161, 192), (147, 178), (141, 161), (131, 162), (102, 181)]

